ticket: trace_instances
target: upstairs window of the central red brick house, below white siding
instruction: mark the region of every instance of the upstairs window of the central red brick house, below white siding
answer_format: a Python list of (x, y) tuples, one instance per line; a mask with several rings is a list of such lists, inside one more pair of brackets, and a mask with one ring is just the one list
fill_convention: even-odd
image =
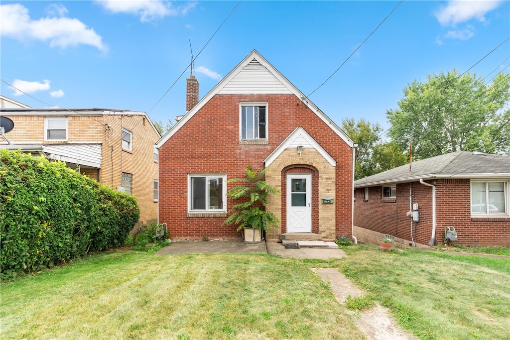
[(241, 103), (241, 140), (267, 140), (267, 103)]

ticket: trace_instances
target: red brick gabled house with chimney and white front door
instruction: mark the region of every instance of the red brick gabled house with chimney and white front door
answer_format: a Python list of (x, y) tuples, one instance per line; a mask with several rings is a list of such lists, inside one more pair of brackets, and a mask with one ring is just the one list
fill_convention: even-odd
[(226, 181), (247, 166), (269, 166), (266, 180), (282, 191), (269, 197), (281, 224), (268, 238), (352, 235), (354, 143), (256, 50), (200, 101), (191, 76), (186, 110), (157, 144), (159, 222), (172, 239), (240, 238), (222, 224)]

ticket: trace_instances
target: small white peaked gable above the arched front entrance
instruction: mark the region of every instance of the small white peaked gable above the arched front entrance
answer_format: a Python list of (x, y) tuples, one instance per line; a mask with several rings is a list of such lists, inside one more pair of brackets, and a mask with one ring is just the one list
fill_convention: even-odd
[(324, 157), (324, 159), (329, 164), (331, 164), (331, 166), (337, 165), (335, 159), (331, 157), (329, 153), (327, 153), (327, 151), (324, 150), (324, 148), (319, 143), (317, 143), (317, 141), (313, 139), (312, 136), (310, 136), (309, 133), (302, 126), (296, 128), (292, 132), (292, 134), (290, 134), (289, 137), (287, 137), (282, 142), (282, 144), (280, 144), (276, 149), (274, 149), (274, 151), (271, 152), (271, 154), (266, 158), (264, 164), (266, 165), (266, 167), (270, 166), (271, 163), (273, 163), (278, 158), (278, 156), (286, 149), (295, 149), (297, 153), (297, 147), (299, 145), (302, 145), (303, 149), (312, 148), (317, 150), (317, 152), (319, 152)]

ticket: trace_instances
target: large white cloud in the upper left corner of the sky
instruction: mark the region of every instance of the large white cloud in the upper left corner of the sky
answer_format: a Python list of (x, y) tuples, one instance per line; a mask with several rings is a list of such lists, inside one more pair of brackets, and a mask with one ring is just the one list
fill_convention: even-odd
[(49, 41), (52, 47), (77, 46), (79, 44), (91, 45), (99, 50), (107, 50), (101, 36), (94, 32), (78, 19), (51, 16), (55, 11), (65, 15), (64, 6), (49, 7), (48, 17), (32, 20), (29, 11), (22, 5), (0, 5), (0, 34), (17, 40)]

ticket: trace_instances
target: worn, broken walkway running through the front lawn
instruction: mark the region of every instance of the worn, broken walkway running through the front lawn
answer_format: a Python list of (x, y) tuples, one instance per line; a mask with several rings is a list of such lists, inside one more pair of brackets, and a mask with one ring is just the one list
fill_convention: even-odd
[[(347, 296), (362, 297), (365, 293), (353, 285), (336, 268), (313, 268), (324, 282), (329, 282), (331, 291), (337, 298), (338, 303), (343, 304)], [(352, 312), (354, 315), (354, 312)], [(375, 307), (360, 312), (359, 318), (354, 318), (354, 323), (370, 340), (414, 340), (412, 334), (404, 331), (393, 319), (388, 309), (378, 304)]]

